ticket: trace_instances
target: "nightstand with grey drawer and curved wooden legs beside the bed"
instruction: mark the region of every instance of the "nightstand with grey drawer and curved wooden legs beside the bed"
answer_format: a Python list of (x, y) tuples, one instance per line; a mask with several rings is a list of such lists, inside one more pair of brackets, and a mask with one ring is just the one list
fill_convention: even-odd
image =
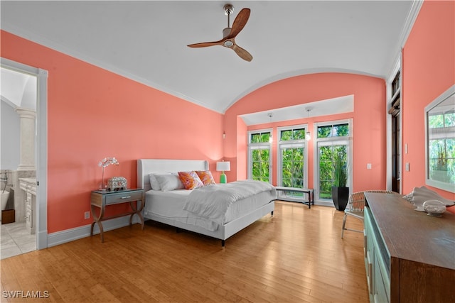
[[(136, 202), (136, 203), (134, 203)], [(127, 213), (117, 214), (116, 216), (105, 217), (106, 206), (129, 203), (131, 211)], [(144, 217), (141, 214), (142, 209), (144, 209), (145, 199), (144, 199), (144, 189), (125, 189), (118, 192), (109, 192), (104, 190), (94, 190), (92, 191), (90, 197), (90, 208), (92, 210), (93, 222), (90, 226), (90, 236), (93, 236), (93, 226), (95, 223), (100, 227), (100, 236), (101, 242), (105, 241), (103, 234), (102, 221), (107, 219), (118, 218), (119, 216), (130, 216), (129, 225), (132, 225), (133, 216), (137, 214), (139, 219), (141, 219), (142, 229), (144, 229)], [(96, 209), (99, 209), (99, 214), (97, 214)]]

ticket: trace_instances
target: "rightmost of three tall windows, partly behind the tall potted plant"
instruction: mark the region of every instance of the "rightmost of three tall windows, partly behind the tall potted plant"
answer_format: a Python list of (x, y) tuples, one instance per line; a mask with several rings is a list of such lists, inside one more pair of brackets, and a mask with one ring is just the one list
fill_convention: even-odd
[[(349, 167), (350, 160), (350, 121), (319, 123), (317, 126), (317, 157), (315, 177), (316, 199), (332, 199), (332, 186), (335, 179), (333, 163), (341, 159)], [(348, 170), (348, 184), (350, 183)]]

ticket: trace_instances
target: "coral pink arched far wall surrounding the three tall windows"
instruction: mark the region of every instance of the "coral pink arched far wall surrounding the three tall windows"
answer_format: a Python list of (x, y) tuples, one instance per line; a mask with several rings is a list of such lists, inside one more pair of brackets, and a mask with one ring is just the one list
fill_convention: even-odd
[[(273, 109), (306, 104), (323, 99), (331, 99), (354, 95), (354, 111), (350, 114), (315, 117), (303, 119), (309, 122), (312, 129), (314, 122), (336, 119), (353, 119), (353, 191), (365, 189), (385, 189), (386, 186), (386, 109), (385, 109), (385, 81), (383, 79), (363, 75), (345, 73), (319, 73), (301, 75), (283, 79), (257, 89), (237, 101), (225, 113), (226, 144), (225, 157), (237, 158), (237, 162), (245, 162), (247, 138), (242, 137), (242, 145), (232, 138), (237, 134), (235, 126), (241, 114), (256, 111), (271, 111)], [(302, 113), (305, 116), (305, 113)], [(302, 123), (292, 121), (289, 123)], [(273, 123), (276, 138), (276, 126), (291, 124)], [(264, 125), (262, 125), (263, 127)], [(250, 127), (250, 129), (252, 129)], [(240, 132), (238, 132), (240, 134)], [(309, 148), (313, 149), (314, 141), (310, 141)], [(276, 145), (274, 145), (276, 148)], [(313, 155), (309, 154), (309, 186), (313, 187)], [(276, 167), (276, 157), (273, 166)], [(373, 169), (367, 170), (367, 163), (372, 163)], [(231, 169), (235, 170), (235, 167)], [(276, 184), (276, 170), (274, 168), (274, 184)], [(238, 177), (242, 175), (239, 174)], [(231, 174), (230, 176), (235, 177)], [(245, 175), (246, 177), (246, 175)]]

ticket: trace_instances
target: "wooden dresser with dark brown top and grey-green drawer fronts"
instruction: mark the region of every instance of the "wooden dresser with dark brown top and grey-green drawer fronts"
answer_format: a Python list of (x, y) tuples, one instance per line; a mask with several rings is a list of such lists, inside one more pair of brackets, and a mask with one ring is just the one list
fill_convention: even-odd
[(370, 302), (455, 302), (455, 214), (427, 216), (398, 194), (365, 199)]

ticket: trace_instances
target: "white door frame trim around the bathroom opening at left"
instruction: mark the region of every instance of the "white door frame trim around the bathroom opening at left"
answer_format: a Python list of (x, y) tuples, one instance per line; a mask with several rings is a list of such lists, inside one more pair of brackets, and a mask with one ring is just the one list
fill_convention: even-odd
[(48, 247), (48, 71), (3, 57), (1, 67), (36, 77), (36, 248)]

